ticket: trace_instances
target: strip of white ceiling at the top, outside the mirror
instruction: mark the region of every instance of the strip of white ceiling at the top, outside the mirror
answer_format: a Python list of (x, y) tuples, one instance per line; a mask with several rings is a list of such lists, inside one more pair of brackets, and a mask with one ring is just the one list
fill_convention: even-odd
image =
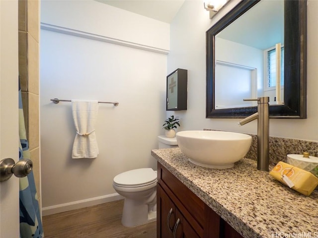
[(127, 11), (171, 23), (184, 0), (96, 0)]

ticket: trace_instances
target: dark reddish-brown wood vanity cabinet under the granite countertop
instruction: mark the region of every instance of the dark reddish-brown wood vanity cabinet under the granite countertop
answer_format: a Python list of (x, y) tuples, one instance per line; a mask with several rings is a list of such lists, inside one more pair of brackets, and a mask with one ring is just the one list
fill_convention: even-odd
[(243, 238), (158, 163), (157, 238)]

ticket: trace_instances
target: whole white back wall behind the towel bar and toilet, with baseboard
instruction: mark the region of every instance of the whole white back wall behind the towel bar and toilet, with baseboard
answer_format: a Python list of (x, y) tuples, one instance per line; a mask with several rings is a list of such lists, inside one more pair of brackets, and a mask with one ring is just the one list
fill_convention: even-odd
[[(78, 24), (75, 26), (78, 32), (102, 32), (109, 37), (122, 29), (122, 22), (125, 22), (131, 30), (144, 29), (129, 39), (131, 44), (142, 42), (154, 48), (159, 47), (157, 42), (169, 43), (169, 25), (166, 23), (162, 25), (162, 22), (136, 14), (132, 17), (126, 11), (121, 14), (121, 21), (103, 19), (108, 11), (120, 13), (120, 10), (96, 1), (70, 2), (73, 9), (78, 10), (70, 14), (72, 21), (79, 23), (90, 19), (94, 26), (91, 28), (94, 32), (90, 32), (89, 27), (83, 24), (86, 28), (81, 29)], [(68, 14), (60, 11), (65, 8), (46, 3), (42, 4), (41, 21), (70, 28)], [(65, 4), (64, 1), (54, 3)], [(94, 11), (96, 7), (101, 14), (98, 17)], [(47, 12), (55, 17), (45, 18)], [(64, 24), (63, 18), (65, 25), (58, 25)], [(164, 31), (159, 30), (161, 35), (157, 35), (158, 23), (167, 33), (161, 34)], [(112, 26), (109, 32), (103, 32), (109, 25)], [(128, 35), (132, 34), (129, 32)], [(149, 34), (155, 35), (156, 41), (145, 40)], [(121, 35), (117, 37), (122, 40)], [(128, 36), (125, 37), (128, 41)], [(168, 50), (169, 44), (160, 48)], [(161, 128), (165, 119), (167, 56), (134, 46), (130, 48), (43, 29), (40, 51), (43, 214), (117, 198), (112, 187), (114, 176), (131, 169), (157, 167), (151, 150), (158, 148), (157, 136), (164, 133)], [(76, 134), (72, 105), (70, 102), (54, 104), (50, 101), (53, 98), (119, 102), (118, 107), (99, 104), (96, 126), (99, 155), (96, 159), (71, 158)]]

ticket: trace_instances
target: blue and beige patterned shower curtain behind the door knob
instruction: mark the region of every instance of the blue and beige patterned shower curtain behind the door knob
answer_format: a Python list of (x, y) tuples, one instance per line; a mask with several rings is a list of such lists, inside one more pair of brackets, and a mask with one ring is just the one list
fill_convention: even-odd
[[(19, 160), (31, 159), (26, 139), (22, 95), (19, 80)], [(20, 178), (20, 238), (44, 238), (33, 171)]]

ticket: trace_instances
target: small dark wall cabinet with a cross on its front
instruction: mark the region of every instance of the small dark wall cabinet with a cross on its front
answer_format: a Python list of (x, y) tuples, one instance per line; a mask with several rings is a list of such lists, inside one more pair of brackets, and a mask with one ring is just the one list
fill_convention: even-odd
[(167, 76), (166, 110), (187, 110), (188, 70), (178, 68)]

